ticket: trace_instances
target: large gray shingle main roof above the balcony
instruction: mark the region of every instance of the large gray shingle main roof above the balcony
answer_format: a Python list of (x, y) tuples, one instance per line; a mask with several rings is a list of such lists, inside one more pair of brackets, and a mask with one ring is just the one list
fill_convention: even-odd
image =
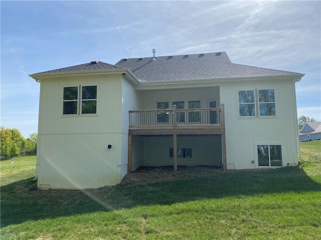
[(115, 65), (129, 68), (142, 81), (173, 81), (299, 74), (232, 63), (226, 52), (124, 58)]

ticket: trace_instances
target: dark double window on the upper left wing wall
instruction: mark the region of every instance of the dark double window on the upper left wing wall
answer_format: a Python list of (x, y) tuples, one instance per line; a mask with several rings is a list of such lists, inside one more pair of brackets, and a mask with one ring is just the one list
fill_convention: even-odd
[[(79, 89), (81, 89), (81, 92), (79, 92)], [(64, 87), (63, 115), (90, 114), (96, 112), (97, 86)]]

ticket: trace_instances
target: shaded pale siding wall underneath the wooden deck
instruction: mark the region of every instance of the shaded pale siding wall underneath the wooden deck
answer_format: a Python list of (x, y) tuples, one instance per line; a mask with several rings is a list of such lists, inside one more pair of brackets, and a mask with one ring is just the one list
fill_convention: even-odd
[[(192, 148), (192, 157), (178, 157), (178, 165), (221, 166), (222, 147), (220, 135), (179, 135), (178, 148)], [(170, 157), (170, 148), (173, 148), (173, 136), (144, 136), (143, 165), (164, 166), (173, 165)]]

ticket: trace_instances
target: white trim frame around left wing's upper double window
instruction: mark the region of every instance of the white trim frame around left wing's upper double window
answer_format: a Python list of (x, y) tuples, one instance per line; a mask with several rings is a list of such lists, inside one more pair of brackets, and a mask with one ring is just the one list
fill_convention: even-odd
[[(78, 94), (77, 94), (77, 113), (76, 114), (64, 114), (64, 102), (71, 101), (71, 100), (64, 100), (64, 88), (65, 87), (78, 87)], [(89, 100), (96, 100), (96, 113), (81, 113), (82, 111), (82, 87), (83, 86), (96, 86), (96, 99), (89, 99)], [(62, 87), (62, 117), (70, 117), (70, 116), (96, 116), (98, 115), (98, 83), (87, 83), (87, 84), (79, 84), (79, 85), (65, 85)], [(88, 99), (84, 99), (88, 100)]]

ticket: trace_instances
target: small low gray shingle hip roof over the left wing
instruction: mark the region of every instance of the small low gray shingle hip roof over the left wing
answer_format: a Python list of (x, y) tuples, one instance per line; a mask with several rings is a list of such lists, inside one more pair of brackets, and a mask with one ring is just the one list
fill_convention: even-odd
[(84, 64), (79, 64), (75, 66), (68, 66), (59, 69), (38, 72), (35, 74), (43, 73), (63, 73), (63, 72), (81, 72), (81, 71), (95, 71), (95, 70), (109, 70), (109, 69), (122, 69), (121, 66), (116, 66), (102, 61), (91, 61)]

